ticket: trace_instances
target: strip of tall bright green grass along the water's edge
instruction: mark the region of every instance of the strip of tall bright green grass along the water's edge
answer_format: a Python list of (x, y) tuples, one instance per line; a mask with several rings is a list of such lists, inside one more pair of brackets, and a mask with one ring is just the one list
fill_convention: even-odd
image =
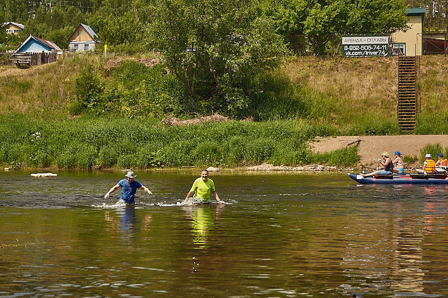
[[(296, 165), (314, 160), (306, 140), (317, 132), (326, 133), (323, 127), (292, 120), (166, 127), (154, 119), (50, 121), (11, 114), (0, 117), (0, 162), (67, 169)], [(356, 151), (344, 154), (345, 164), (357, 158)], [(319, 162), (333, 164), (332, 158), (320, 156)]]

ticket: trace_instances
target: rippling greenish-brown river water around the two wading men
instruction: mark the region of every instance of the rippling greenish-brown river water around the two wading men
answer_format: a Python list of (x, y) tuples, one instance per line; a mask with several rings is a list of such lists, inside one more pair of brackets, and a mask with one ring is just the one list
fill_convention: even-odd
[[(0, 173), (0, 298), (448, 297), (448, 186), (346, 174), (210, 173), (224, 206), (179, 206), (195, 172)], [(214, 199), (212, 199), (214, 201)]]

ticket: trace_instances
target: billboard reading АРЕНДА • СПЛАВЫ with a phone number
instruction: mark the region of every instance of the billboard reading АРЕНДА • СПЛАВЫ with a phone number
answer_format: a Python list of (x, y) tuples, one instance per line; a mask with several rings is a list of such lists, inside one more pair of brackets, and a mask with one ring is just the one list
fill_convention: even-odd
[(389, 36), (387, 35), (347, 35), (342, 36), (343, 57), (387, 56)]

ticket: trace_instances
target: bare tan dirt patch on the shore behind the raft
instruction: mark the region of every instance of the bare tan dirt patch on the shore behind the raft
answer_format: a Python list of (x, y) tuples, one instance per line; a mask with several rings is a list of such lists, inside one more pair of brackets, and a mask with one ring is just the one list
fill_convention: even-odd
[[(439, 143), (443, 148), (448, 147), (448, 135), (318, 137), (308, 144), (315, 152), (328, 152), (344, 148), (347, 144), (358, 139), (361, 140), (358, 148), (361, 157), (360, 163), (366, 165), (376, 163), (384, 151), (392, 154), (398, 150), (403, 155), (419, 157), (420, 149), (428, 144)], [(437, 156), (434, 156), (434, 158), (437, 159)]]

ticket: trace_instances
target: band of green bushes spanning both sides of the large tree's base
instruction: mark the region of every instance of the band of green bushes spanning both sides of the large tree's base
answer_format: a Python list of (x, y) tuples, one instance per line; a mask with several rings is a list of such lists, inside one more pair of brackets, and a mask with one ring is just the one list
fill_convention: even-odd
[(248, 88), (244, 94), (227, 90), (225, 100), (215, 96), (198, 104), (162, 64), (146, 67), (127, 60), (112, 72), (89, 66), (80, 73), (75, 82), (77, 100), (69, 110), (73, 115), (110, 112), (155, 117), (221, 113), (234, 119), (252, 116), (260, 121), (294, 119), (308, 109), (300, 87), (292, 85), (283, 73), (259, 74)]

